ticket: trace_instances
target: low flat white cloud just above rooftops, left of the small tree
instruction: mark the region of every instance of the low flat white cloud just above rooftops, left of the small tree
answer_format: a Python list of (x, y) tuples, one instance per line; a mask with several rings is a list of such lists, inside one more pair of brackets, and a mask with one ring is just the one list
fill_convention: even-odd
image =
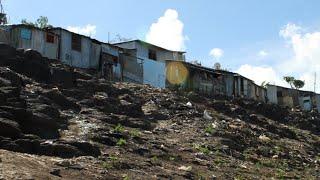
[(241, 74), (261, 85), (266, 81), (271, 84), (283, 85), (276, 71), (270, 66), (251, 66), (249, 64), (242, 65), (236, 73)]

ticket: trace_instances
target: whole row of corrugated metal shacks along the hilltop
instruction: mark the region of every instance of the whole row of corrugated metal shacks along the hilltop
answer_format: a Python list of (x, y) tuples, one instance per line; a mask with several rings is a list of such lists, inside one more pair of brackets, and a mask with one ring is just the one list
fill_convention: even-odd
[(75, 68), (94, 70), (111, 81), (180, 88), (209, 96), (241, 97), (285, 107), (320, 111), (320, 95), (267, 84), (262, 87), (237, 73), (203, 67), (185, 59), (186, 52), (170, 51), (141, 40), (104, 43), (63, 28), (2, 25), (0, 41), (33, 49), (48, 59)]

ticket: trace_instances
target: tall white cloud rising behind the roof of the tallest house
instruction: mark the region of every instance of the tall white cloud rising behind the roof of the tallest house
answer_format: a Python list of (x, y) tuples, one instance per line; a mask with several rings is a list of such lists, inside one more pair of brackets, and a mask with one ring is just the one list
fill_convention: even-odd
[(183, 34), (184, 24), (174, 9), (167, 9), (146, 35), (146, 41), (174, 51), (185, 50), (188, 37)]

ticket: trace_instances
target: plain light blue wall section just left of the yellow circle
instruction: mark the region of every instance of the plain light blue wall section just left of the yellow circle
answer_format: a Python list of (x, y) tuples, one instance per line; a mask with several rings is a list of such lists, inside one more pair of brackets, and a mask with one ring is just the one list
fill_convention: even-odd
[(143, 61), (143, 84), (154, 87), (166, 87), (166, 64), (165, 62), (145, 59)]

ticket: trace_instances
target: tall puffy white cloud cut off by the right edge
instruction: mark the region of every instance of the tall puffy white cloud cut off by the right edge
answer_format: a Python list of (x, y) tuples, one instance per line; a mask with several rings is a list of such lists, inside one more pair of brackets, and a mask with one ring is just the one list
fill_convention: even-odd
[(320, 72), (320, 32), (305, 32), (295, 24), (286, 25), (280, 36), (287, 40), (292, 58), (279, 65), (286, 74), (305, 80), (304, 90), (313, 91), (314, 73)]

